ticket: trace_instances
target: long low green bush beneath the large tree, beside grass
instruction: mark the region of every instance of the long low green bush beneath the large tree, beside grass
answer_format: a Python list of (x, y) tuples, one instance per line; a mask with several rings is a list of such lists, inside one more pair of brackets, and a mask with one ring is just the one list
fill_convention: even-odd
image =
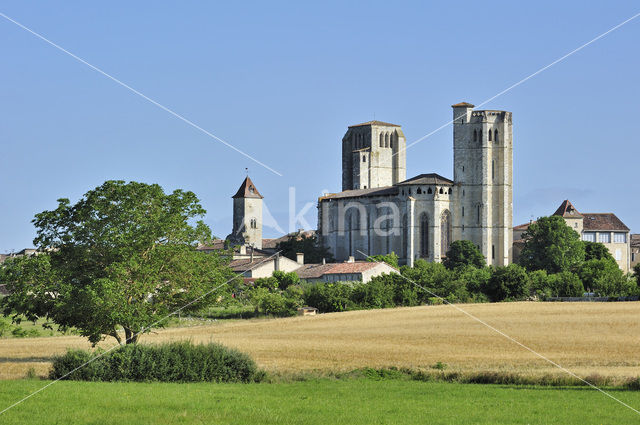
[[(77, 369), (77, 370), (76, 370)], [(69, 350), (53, 359), (50, 379), (79, 381), (259, 382), (264, 372), (246, 354), (220, 344), (130, 344), (92, 354)]]

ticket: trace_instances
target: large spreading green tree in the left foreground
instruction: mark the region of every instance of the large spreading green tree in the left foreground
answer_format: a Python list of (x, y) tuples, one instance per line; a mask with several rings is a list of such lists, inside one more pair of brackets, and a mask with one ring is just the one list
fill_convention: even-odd
[[(107, 181), (76, 204), (35, 216), (41, 253), (0, 272), (3, 312), (76, 328), (93, 343), (110, 335), (135, 343), (176, 309), (201, 308), (233, 275), (227, 260), (195, 249), (211, 232), (192, 192)], [(222, 289), (223, 290), (223, 289)]]

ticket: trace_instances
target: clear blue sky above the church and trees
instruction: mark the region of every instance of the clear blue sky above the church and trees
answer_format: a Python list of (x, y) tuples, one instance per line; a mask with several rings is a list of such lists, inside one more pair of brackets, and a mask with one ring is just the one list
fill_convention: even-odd
[[(4, 1), (0, 12), (278, 170), (260, 167), (0, 18), (0, 252), (33, 215), (107, 179), (194, 191), (214, 234), (249, 167), (287, 230), (339, 191), (341, 138), (374, 117), (407, 142), (640, 12), (636, 2)], [(514, 224), (564, 199), (640, 232), (640, 18), (487, 104), (514, 119)], [(407, 176), (452, 177), (447, 127)], [(313, 226), (316, 210), (306, 214)], [(277, 236), (266, 229), (265, 236)]]

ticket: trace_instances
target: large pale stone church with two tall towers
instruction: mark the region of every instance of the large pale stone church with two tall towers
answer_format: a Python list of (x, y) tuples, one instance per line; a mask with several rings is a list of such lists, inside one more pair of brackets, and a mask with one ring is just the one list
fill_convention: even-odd
[(395, 252), (401, 264), (441, 261), (470, 240), (490, 265), (512, 259), (511, 112), (453, 105), (453, 179), (407, 179), (399, 125), (352, 125), (342, 138), (342, 192), (318, 200), (318, 236), (336, 260)]

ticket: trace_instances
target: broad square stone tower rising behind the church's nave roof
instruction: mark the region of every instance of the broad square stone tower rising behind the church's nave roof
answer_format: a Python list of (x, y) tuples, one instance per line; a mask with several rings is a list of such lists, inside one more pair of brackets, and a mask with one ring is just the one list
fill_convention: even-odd
[(392, 186), (407, 178), (407, 140), (399, 125), (369, 121), (342, 138), (342, 190)]

